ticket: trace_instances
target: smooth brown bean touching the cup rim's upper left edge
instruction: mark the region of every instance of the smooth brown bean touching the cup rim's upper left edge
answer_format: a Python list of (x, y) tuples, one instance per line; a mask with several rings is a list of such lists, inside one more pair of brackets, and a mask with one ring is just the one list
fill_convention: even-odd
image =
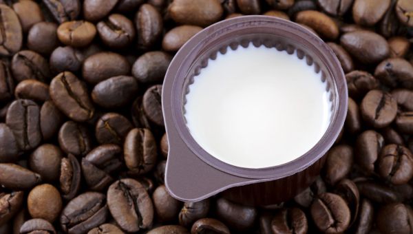
[(202, 30), (201, 27), (193, 25), (181, 25), (171, 29), (162, 40), (162, 49), (168, 52), (176, 52), (191, 37)]

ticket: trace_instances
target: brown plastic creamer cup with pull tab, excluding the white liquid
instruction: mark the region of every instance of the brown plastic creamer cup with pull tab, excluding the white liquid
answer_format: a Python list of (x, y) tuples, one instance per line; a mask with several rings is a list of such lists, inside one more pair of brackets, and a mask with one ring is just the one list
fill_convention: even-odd
[[(184, 119), (185, 96), (193, 77), (217, 53), (238, 46), (265, 45), (297, 51), (297, 56), (321, 72), (332, 103), (330, 125), (324, 136), (299, 158), (260, 169), (236, 167), (211, 156), (193, 139)], [(275, 17), (237, 17), (205, 28), (181, 47), (165, 76), (162, 109), (169, 142), (166, 187), (174, 198), (197, 202), (223, 191), (234, 202), (277, 204), (293, 198), (319, 175), (326, 157), (343, 127), (347, 111), (347, 86), (341, 65), (318, 36), (300, 25)]]

